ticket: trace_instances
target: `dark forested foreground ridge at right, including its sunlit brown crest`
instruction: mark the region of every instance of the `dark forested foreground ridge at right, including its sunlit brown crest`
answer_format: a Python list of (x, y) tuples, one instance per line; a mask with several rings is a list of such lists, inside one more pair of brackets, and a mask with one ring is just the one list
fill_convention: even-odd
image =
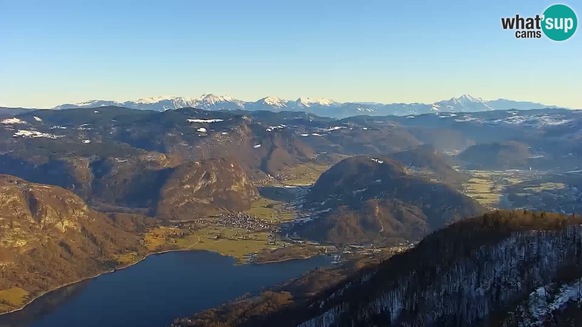
[(469, 217), (301, 305), (271, 294), (268, 310), (250, 311), (266, 314), (253, 325), (525, 326), (525, 316), (514, 312), (517, 305), (540, 287), (549, 290), (582, 276), (581, 223), (579, 216), (548, 212)]

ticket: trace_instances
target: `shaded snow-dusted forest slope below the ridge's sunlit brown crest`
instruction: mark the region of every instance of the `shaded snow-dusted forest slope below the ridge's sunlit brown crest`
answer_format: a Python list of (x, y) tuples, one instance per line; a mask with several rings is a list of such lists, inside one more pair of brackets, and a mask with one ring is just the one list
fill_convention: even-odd
[[(435, 236), (428, 244), (432, 249), (410, 251), (373, 276), (343, 286), (315, 304), (324, 312), (299, 326), (469, 326), (487, 321), (526, 326), (579, 298), (582, 225), (491, 238), (486, 232), (457, 232), (458, 240)], [(389, 271), (398, 268), (398, 273)], [(516, 303), (521, 304), (516, 308)]]

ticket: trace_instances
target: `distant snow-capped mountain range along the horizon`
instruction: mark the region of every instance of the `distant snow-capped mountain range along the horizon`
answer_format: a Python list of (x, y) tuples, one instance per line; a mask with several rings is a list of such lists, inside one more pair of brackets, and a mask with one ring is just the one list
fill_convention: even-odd
[(77, 104), (63, 104), (53, 109), (95, 108), (98, 106), (124, 106), (126, 108), (166, 111), (171, 109), (194, 107), (207, 110), (268, 110), (268, 111), (304, 111), (320, 116), (345, 118), (357, 115), (371, 116), (407, 116), (430, 112), (478, 112), (491, 110), (527, 110), (556, 108), (556, 106), (527, 101), (508, 99), (484, 100), (464, 94), (458, 98), (438, 101), (434, 104), (379, 104), (375, 102), (336, 102), (331, 99), (299, 98), (286, 100), (277, 97), (265, 97), (255, 102), (247, 102), (229, 95), (203, 94), (201, 97), (151, 97), (135, 101), (116, 102), (108, 100), (91, 100)]

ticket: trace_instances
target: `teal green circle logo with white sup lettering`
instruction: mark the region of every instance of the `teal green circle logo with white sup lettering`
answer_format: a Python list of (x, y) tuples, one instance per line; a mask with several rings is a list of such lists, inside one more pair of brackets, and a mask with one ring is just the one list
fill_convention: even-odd
[(542, 31), (554, 41), (564, 41), (576, 31), (578, 20), (576, 13), (566, 5), (553, 5), (542, 16)]

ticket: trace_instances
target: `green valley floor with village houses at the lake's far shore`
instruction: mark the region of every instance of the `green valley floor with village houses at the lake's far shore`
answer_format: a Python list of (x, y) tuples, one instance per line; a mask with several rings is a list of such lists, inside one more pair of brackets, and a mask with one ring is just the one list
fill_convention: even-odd
[[(296, 226), (318, 219), (322, 211), (303, 210), (313, 177), (281, 173), (262, 180), (262, 198), (247, 212), (228, 212), (189, 221), (171, 221), (146, 237), (162, 249), (213, 250), (232, 255), (240, 263), (260, 263), (328, 255), (333, 264), (360, 258), (384, 259), (406, 251), (416, 242), (406, 240), (391, 247), (374, 244), (322, 244), (304, 239)], [(301, 183), (295, 183), (300, 180)], [(306, 183), (312, 181), (311, 183)], [(268, 200), (267, 200), (268, 199)], [(325, 210), (324, 210), (325, 212)], [(164, 241), (160, 241), (163, 239)], [(150, 247), (153, 244), (149, 244)]]

